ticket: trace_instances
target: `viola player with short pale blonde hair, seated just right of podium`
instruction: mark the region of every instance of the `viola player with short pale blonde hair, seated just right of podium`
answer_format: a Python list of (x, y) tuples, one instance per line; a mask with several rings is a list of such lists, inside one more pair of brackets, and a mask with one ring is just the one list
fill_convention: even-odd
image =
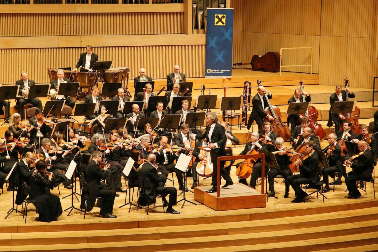
[[(289, 197), (289, 182), (287, 181), (288, 176), (291, 176), (292, 173), (289, 168), (289, 164), (291, 164), (290, 157), (288, 155), (285, 155), (285, 150), (283, 150), (283, 138), (278, 137), (276, 138), (276, 150), (274, 150), (272, 153), (276, 157), (278, 169), (276, 168), (270, 168), (268, 172), (268, 183), (269, 183), (269, 197), (272, 197), (276, 194), (274, 191), (274, 178), (277, 175), (282, 175), (285, 179), (285, 195), (283, 198)], [(279, 155), (279, 153), (282, 153), (283, 155)]]

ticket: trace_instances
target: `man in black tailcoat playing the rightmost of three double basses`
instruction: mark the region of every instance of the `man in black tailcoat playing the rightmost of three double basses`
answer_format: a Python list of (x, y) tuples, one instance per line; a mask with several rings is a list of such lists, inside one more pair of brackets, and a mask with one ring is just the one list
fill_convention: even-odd
[[(346, 90), (346, 91), (345, 91)], [(342, 120), (346, 119), (342, 114), (336, 114), (332, 113), (332, 108), (333, 104), (335, 102), (342, 102), (346, 100), (346, 93), (348, 92), (348, 97), (349, 98), (354, 98), (356, 97), (353, 92), (349, 90), (349, 88), (345, 88), (345, 90), (341, 90), (341, 85), (336, 85), (335, 88), (335, 93), (333, 93), (330, 96), (330, 110), (329, 110), (329, 116), (328, 116), (328, 123), (327, 126), (331, 127), (332, 126), (332, 121), (335, 124), (335, 133), (337, 134), (339, 131), (339, 125), (342, 123)]]

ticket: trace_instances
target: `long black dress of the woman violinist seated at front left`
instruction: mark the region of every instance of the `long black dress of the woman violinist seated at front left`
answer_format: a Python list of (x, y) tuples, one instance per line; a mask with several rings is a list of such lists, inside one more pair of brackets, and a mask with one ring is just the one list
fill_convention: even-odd
[(40, 221), (56, 221), (63, 213), (59, 196), (51, 194), (49, 190), (53, 188), (53, 180), (39, 172), (32, 173), (30, 178), (30, 196), (36, 200)]

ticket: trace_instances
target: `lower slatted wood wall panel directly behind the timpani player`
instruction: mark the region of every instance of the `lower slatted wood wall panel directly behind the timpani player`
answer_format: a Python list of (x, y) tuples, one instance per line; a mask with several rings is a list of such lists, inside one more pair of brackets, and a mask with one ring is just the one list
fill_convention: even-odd
[[(0, 49), (0, 83), (15, 83), (20, 72), (28, 72), (37, 83), (49, 82), (46, 68), (76, 65), (83, 48)], [(165, 79), (179, 64), (187, 77), (204, 76), (205, 45), (114, 46), (96, 48), (102, 59), (113, 60), (113, 67), (129, 66), (130, 79), (146, 68), (153, 79)]]

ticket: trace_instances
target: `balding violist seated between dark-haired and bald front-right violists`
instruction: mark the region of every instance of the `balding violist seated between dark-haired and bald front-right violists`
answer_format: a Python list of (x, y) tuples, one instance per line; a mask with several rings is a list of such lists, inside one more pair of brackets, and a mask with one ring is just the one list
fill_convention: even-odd
[(328, 161), (328, 168), (323, 168), (323, 182), (325, 184), (325, 187), (322, 191), (323, 193), (326, 193), (330, 190), (328, 185), (328, 175), (332, 177), (333, 173), (343, 173), (343, 169), (345, 169), (345, 167), (343, 168), (340, 160), (341, 148), (340, 145), (337, 143), (336, 134), (329, 134), (327, 140), (329, 145), (322, 150), (322, 152), (327, 153), (325, 156)]

